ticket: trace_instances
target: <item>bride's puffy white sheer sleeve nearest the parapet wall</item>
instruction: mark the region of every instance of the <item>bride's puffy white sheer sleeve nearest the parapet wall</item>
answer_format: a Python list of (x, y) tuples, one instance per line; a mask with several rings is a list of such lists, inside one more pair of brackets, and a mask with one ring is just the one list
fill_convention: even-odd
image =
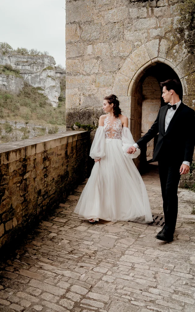
[(99, 126), (96, 130), (89, 155), (94, 159), (100, 159), (105, 156), (105, 133), (103, 126)]

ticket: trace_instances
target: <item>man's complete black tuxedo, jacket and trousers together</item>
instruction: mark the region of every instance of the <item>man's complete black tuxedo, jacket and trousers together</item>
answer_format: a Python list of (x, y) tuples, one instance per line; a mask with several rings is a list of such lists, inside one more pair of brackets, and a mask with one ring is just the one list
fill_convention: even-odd
[(158, 134), (153, 161), (158, 160), (158, 169), (165, 217), (164, 229), (172, 236), (178, 212), (179, 169), (183, 161), (192, 162), (195, 145), (195, 111), (181, 103), (165, 131), (165, 116), (168, 105), (160, 108), (158, 116), (148, 132), (136, 143), (144, 147)]

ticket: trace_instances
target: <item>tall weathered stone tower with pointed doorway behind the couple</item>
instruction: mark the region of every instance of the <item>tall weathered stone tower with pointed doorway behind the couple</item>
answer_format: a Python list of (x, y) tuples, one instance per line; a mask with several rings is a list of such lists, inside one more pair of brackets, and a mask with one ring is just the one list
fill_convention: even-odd
[(67, 129), (96, 124), (114, 93), (137, 140), (164, 104), (159, 82), (169, 78), (194, 108), (194, 11), (195, 0), (66, 0)]

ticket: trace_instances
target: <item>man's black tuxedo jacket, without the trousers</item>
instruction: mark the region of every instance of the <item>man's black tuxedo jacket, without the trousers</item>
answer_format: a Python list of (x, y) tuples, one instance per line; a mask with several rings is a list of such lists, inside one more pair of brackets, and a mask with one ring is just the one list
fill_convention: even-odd
[(159, 154), (166, 155), (168, 161), (192, 162), (195, 145), (195, 111), (181, 103), (165, 131), (165, 116), (168, 105), (162, 106), (152, 127), (136, 143), (142, 148), (158, 134), (153, 161)]

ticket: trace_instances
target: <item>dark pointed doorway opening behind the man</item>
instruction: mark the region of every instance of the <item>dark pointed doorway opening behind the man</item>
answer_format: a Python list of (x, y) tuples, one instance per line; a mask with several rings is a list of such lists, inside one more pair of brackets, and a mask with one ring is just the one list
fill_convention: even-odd
[[(162, 90), (159, 83), (167, 79), (177, 79), (181, 83), (178, 75), (170, 66), (157, 62), (145, 69), (142, 76), (139, 76), (137, 81), (135, 80), (131, 93), (130, 122), (131, 133), (135, 141), (150, 129), (157, 117), (159, 108), (166, 105), (161, 97)], [(181, 100), (182, 96), (183, 89), (181, 85)], [(157, 139), (158, 134), (145, 148), (142, 148), (140, 158), (136, 161), (137, 164), (139, 162), (139, 171), (141, 173), (148, 170), (148, 163), (152, 159)]]

